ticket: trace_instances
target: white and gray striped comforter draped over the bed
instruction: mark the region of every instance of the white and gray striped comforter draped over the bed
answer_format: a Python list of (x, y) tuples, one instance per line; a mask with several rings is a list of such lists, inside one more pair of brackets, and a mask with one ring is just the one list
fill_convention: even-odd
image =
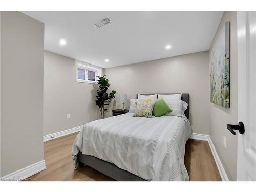
[(87, 123), (72, 148), (114, 163), (148, 181), (187, 181), (185, 144), (191, 134), (186, 118), (145, 118), (132, 113)]

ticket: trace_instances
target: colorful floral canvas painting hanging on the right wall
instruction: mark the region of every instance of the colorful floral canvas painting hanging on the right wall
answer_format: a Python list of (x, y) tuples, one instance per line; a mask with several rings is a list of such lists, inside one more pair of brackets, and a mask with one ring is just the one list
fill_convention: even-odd
[(230, 107), (229, 22), (225, 22), (210, 52), (210, 102)]

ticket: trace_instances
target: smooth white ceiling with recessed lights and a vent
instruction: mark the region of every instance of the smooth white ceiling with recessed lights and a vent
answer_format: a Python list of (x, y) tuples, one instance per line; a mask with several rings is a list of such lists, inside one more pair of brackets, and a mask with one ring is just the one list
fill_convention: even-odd
[[(45, 23), (45, 49), (103, 68), (209, 50), (222, 11), (27, 11)], [(108, 17), (101, 28), (95, 23)], [(59, 40), (67, 45), (60, 47)], [(172, 45), (169, 50), (166, 45)], [(108, 58), (109, 62), (104, 59)]]

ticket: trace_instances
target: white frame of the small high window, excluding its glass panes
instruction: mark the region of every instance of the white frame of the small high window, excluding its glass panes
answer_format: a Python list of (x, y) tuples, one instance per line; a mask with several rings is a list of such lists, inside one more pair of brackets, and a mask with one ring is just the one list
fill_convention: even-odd
[[(83, 83), (92, 83), (92, 84), (96, 84), (97, 83), (97, 80), (98, 78), (96, 77), (97, 75), (98, 76), (102, 76), (102, 68), (101, 67), (98, 67), (98, 66), (94, 66), (94, 65), (91, 65), (87, 62), (83, 62), (83, 61), (79, 61), (79, 60), (76, 60), (76, 82), (83, 82)], [(77, 73), (77, 70), (79, 69), (84, 69), (84, 75), (85, 75), (85, 80), (83, 79), (78, 79), (78, 73)], [(91, 81), (91, 80), (88, 80), (88, 73), (87, 71), (94, 71), (95, 72), (95, 81)]]

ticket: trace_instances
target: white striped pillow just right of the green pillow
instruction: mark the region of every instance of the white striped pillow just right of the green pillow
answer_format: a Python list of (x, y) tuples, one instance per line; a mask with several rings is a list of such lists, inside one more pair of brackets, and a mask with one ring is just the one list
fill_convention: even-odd
[(172, 109), (172, 112), (165, 115), (174, 115), (187, 119), (184, 111), (186, 111), (188, 104), (182, 100), (164, 99), (166, 104)]

